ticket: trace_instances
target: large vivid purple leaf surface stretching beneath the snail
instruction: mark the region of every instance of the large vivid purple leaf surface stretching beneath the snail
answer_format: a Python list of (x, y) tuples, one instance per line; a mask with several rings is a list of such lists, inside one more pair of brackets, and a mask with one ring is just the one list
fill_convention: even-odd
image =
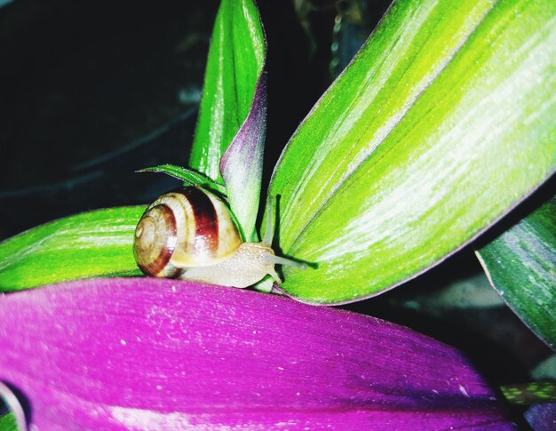
[(41, 429), (512, 429), (452, 347), (291, 299), (159, 279), (0, 298), (0, 379)]

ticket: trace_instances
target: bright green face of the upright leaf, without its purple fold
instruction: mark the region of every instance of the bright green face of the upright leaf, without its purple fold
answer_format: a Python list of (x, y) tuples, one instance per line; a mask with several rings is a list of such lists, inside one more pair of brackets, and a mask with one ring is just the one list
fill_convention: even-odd
[(189, 165), (222, 182), (219, 164), (247, 118), (266, 48), (252, 0), (222, 0), (210, 42)]

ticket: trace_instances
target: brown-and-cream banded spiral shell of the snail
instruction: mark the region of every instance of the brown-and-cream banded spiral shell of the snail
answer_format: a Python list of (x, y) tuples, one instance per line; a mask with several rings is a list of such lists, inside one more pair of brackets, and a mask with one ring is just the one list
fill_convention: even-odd
[(187, 267), (228, 259), (242, 243), (226, 204), (198, 187), (160, 196), (135, 229), (133, 252), (147, 275), (177, 277)]

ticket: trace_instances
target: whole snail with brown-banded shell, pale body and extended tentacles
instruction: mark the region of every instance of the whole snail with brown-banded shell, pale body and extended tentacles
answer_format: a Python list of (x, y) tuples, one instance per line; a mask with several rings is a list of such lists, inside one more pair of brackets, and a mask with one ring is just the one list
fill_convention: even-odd
[(274, 254), (268, 214), (264, 241), (243, 243), (218, 196), (201, 187), (179, 188), (147, 207), (135, 229), (133, 254), (146, 275), (240, 288), (271, 275), (280, 283), (274, 265), (305, 265)]

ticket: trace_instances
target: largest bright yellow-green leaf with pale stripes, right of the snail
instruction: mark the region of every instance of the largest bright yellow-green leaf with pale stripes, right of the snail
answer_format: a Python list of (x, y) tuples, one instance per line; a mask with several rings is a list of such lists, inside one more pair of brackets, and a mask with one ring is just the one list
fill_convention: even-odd
[(282, 288), (376, 295), (463, 247), (556, 166), (556, 2), (395, 2), (282, 153)]

